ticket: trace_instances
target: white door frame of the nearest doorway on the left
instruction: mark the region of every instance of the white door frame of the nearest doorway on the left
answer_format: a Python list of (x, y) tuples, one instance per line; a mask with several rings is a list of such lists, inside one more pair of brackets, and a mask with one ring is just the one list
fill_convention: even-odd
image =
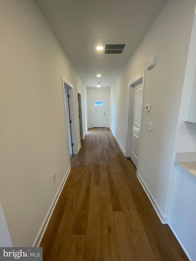
[[(75, 117), (74, 117), (74, 93), (73, 93), (73, 84), (71, 84), (68, 80), (66, 80), (62, 76), (62, 89), (63, 89), (63, 100), (64, 100), (64, 110), (65, 110), (65, 121), (66, 121), (66, 131), (67, 131), (67, 117), (66, 117), (66, 106), (65, 106), (65, 85), (66, 88), (69, 88), (70, 92), (70, 117), (71, 117), (71, 136), (72, 136), (72, 143), (74, 144), (72, 147), (73, 154), (77, 154), (77, 142), (76, 142), (76, 126), (75, 126)], [(67, 144), (68, 144), (68, 149), (69, 149), (69, 139), (68, 139), (68, 131), (67, 131)], [(70, 151), (69, 151), (70, 155)], [(70, 157), (69, 157), (70, 158)]]

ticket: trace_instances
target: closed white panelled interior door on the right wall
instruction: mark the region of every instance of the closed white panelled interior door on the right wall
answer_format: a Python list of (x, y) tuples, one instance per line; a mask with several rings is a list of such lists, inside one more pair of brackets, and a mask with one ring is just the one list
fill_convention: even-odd
[(132, 95), (130, 158), (138, 167), (140, 144), (140, 121), (142, 113), (142, 81), (135, 84)]

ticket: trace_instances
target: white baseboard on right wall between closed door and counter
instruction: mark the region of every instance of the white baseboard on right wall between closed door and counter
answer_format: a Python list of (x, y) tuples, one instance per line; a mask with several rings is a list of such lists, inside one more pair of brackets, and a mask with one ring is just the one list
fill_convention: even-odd
[(160, 209), (159, 205), (157, 204), (156, 200), (154, 199), (152, 193), (150, 192), (149, 188), (147, 187), (147, 185), (145, 184), (143, 178), (141, 177), (140, 173), (138, 173), (138, 180), (140, 181), (142, 187), (144, 188), (147, 196), (150, 199), (150, 202), (152, 203), (156, 214), (158, 215), (158, 217), (160, 218), (160, 221), (162, 224), (168, 224), (168, 215), (164, 215), (162, 210)]

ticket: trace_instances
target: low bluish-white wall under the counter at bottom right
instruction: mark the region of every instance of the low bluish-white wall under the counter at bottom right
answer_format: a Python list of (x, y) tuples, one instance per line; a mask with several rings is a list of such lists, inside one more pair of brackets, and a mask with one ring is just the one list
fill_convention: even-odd
[(169, 225), (190, 260), (196, 260), (195, 217), (196, 217), (196, 177), (177, 168), (175, 184), (171, 198)]

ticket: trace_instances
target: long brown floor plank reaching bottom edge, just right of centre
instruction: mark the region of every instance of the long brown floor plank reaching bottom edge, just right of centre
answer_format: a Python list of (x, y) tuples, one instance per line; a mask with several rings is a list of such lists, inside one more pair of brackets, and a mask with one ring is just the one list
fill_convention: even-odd
[(110, 196), (101, 196), (101, 239), (103, 260), (120, 260)]

